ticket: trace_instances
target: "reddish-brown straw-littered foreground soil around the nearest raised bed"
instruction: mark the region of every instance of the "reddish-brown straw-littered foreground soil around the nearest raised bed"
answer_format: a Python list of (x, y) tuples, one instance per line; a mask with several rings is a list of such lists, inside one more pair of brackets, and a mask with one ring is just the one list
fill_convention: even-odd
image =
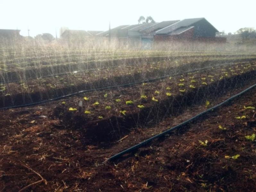
[[(183, 77), (188, 81), (188, 76)], [(230, 86), (222, 87), (219, 98), (209, 97), (210, 105), (255, 84), (248, 77), (233, 81), (224, 78), (225, 85)], [(254, 191), (256, 144), (245, 136), (256, 132), (256, 111), (244, 106), (256, 107), (255, 98), (254, 88), (172, 134), (105, 164), (102, 162), (108, 157), (205, 110), (205, 102), (183, 102), (182, 110), (174, 110), (171, 116), (159, 115), (161, 118), (154, 123), (148, 119), (143, 127), (131, 126), (119, 135), (122, 140), (111, 140), (111, 135), (106, 134), (109, 139), (100, 142), (88, 139), (83, 126), (65, 124), (64, 119), (55, 116), (56, 105), (63, 108), (60, 101), (2, 110), (0, 190), (18, 191), (30, 185), (27, 191)], [(83, 122), (79, 110), (77, 113), (73, 123)], [(238, 116), (245, 118), (235, 118)], [(219, 129), (219, 125), (226, 130)], [(208, 143), (203, 146), (199, 140)], [(235, 159), (236, 155), (240, 156)]]

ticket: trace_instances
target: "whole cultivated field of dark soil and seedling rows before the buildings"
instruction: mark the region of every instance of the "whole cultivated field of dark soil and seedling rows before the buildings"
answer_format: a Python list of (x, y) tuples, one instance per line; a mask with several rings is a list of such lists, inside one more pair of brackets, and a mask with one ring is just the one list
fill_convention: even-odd
[(0, 191), (255, 189), (255, 88), (103, 162), (254, 85), (256, 54), (5, 48), (0, 82)]

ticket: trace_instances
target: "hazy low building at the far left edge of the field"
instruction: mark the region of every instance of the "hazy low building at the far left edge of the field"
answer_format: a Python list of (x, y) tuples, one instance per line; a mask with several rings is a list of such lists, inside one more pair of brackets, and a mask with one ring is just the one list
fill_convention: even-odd
[(21, 38), (20, 30), (0, 29), (0, 42), (10, 44), (17, 40), (21, 40)]

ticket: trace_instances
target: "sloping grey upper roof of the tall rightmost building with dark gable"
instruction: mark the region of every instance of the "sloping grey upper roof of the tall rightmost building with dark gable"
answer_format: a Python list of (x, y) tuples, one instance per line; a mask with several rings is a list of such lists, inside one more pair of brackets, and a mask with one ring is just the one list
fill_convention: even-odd
[(181, 21), (178, 21), (172, 25), (169, 25), (165, 28), (162, 28), (158, 31), (156, 31), (156, 34), (169, 34), (179, 28), (184, 28), (184, 27), (191, 27), (194, 23), (203, 20), (204, 18), (194, 18), (194, 19), (184, 19)]

